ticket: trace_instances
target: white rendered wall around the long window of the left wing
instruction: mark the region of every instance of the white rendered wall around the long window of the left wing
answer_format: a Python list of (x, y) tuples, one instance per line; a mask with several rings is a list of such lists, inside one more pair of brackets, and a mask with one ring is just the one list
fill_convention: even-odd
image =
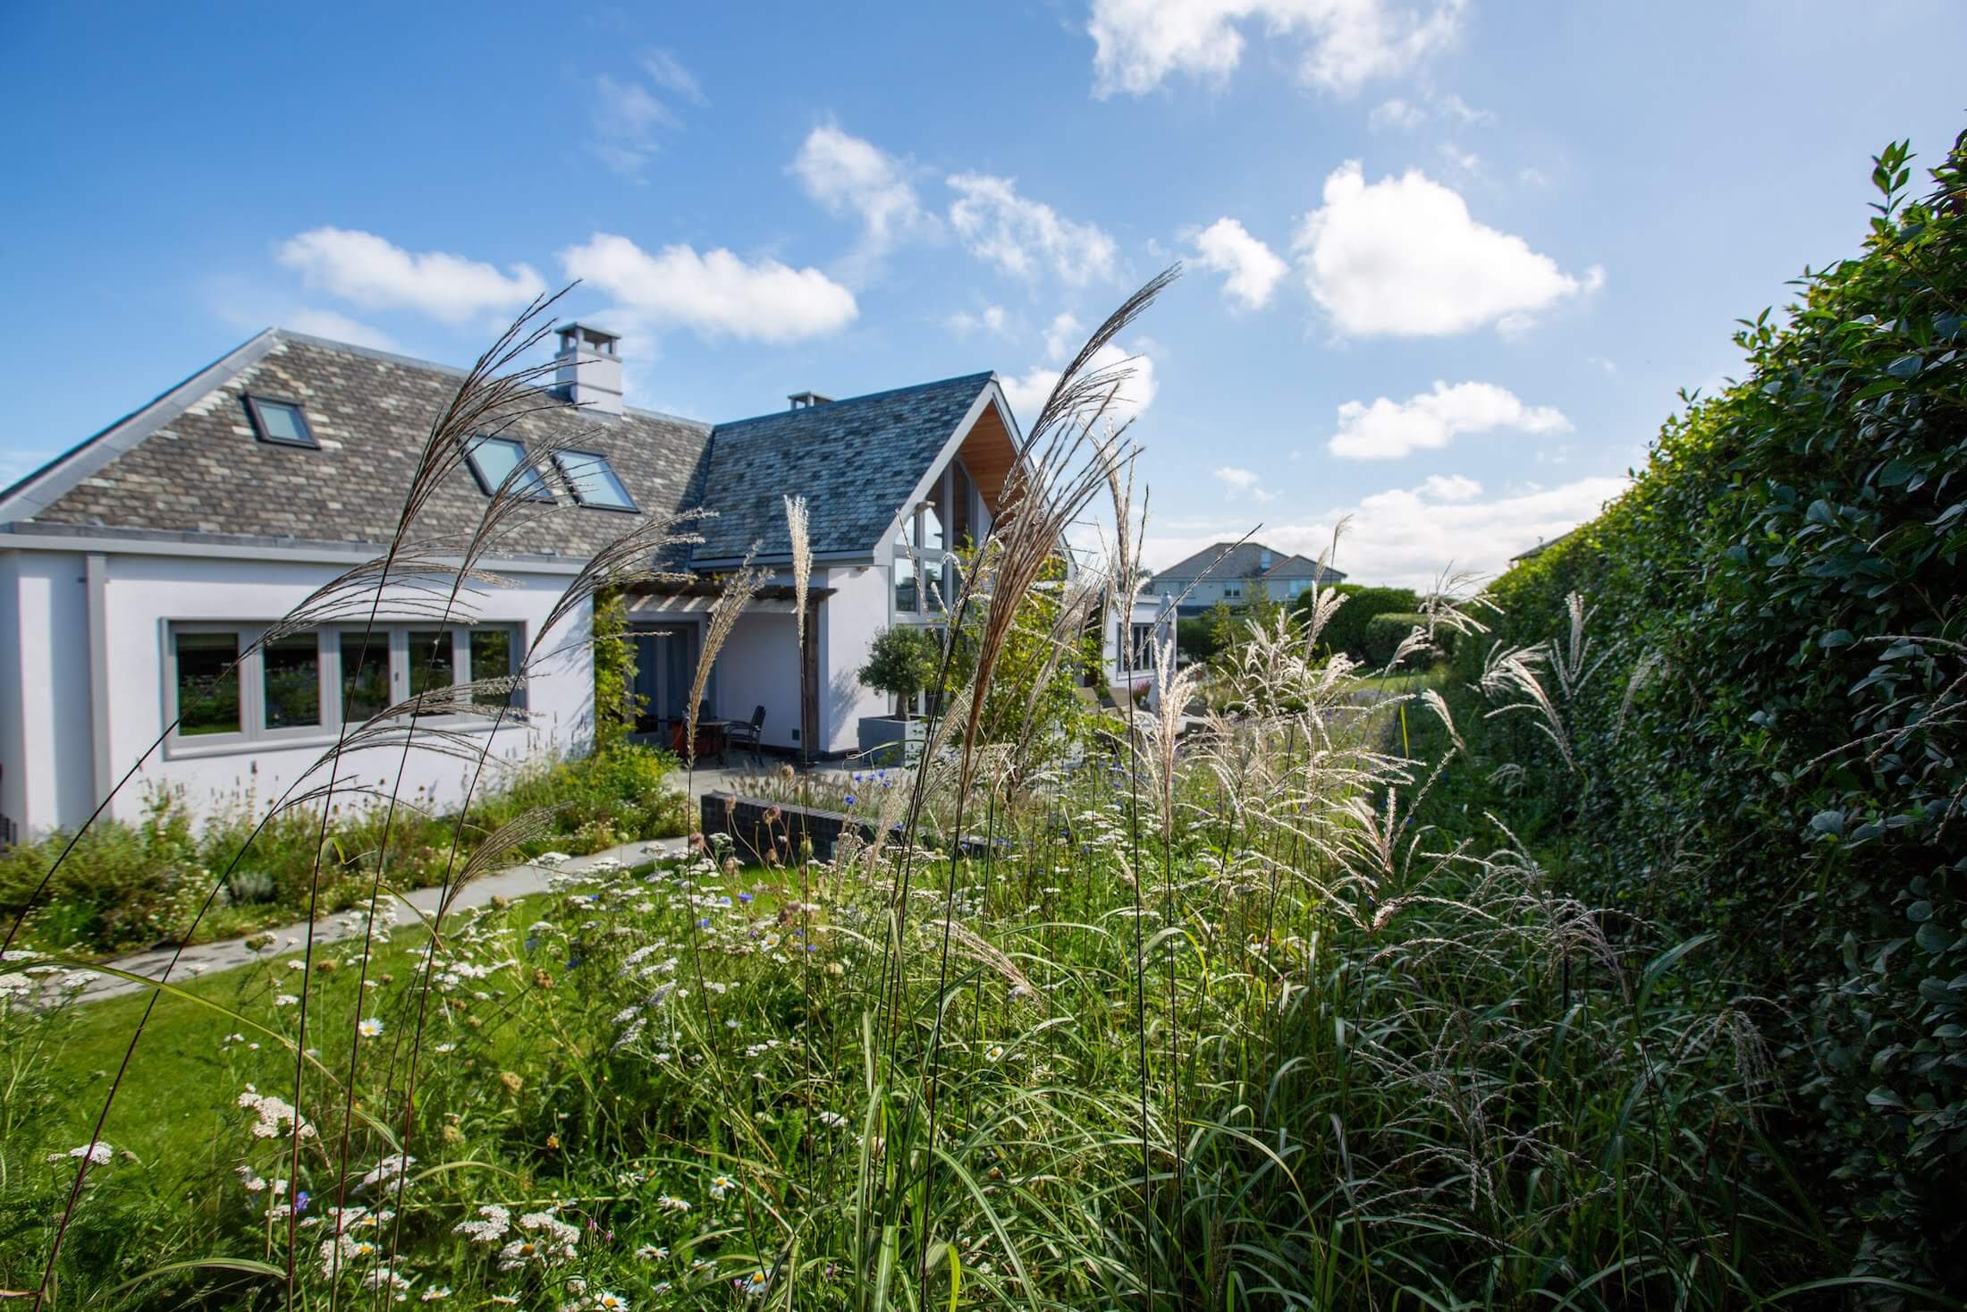
[[(181, 555), (108, 553), (94, 557), (100, 578), (100, 633), (90, 633), (90, 568), (85, 553), (16, 551), (8, 561), (8, 598), (18, 614), (20, 639), (0, 641), (18, 653), (0, 667), (0, 810), (28, 832), (73, 826), (94, 808), (104, 781), (122, 779), (132, 763), (142, 769), (118, 793), (110, 814), (130, 818), (155, 785), (179, 789), (195, 810), (234, 801), (271, 805), (295, 785), (332, 745), (334, 732), (297, 732), (291, 738), (246, 744), (212, 744), (171, 738), (159, 749), (171, 686), (167, 645), (175, 624), (266, 624), (285, 616), (309, 592), (328, 582), (344, 565), (210, 559)], [(533, 643), (547, 612), (566, 584), (565, 570), (525, 572), (502, 568), (513, 582), (478, 596), (482, 624), (519, 626)], [(413, 616), (395, 612), (395, 622)], [(389, 624), (386, 610), (378, 624)], [(584, 751), (594, 728), (594, 667), (588, 649), (592, 612), (576, 614), (539, 643), (555, 653), (527, 685), (529, 724), (507, 724), (496, 734), (490, 718), (458, 718), (454, 728), (484, 742), (500, 759), (561, 749)], [(429, 620), (419, 620), (429, 627)], [(360, 624), (358, 624), (360, 627)], [(102, 679), (94, 681), (90, 653), (100, 653)], [(405, 688), (391, 688), (403, 694)], [(98, 718), (100, 706), (100, 718)], [(148, 759), (146, 759), (146, 753)], [(16, 761), (20, 769), (16, 771)], [(344, 757), (342, 775), (366, 785), (399, 787), (439, 806), (454, 805), (472, 765), (452, 755), (401, 747), (370, 749)], [(325, 781), (325, 775), (317, 775)]]

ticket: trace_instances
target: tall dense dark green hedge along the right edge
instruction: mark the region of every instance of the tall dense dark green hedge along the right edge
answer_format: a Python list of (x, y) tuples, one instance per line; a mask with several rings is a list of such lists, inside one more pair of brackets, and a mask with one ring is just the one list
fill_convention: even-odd
[(1959, 1290), (1967, 185), (1955, 146), (1908, 203), (1906, 159), (1877, 161), (1863, 256), (1745, 323), (1743, 382), (1688, 397), (1631, 492), (1491, 588), (1505, 645), (1591, 606), (1576, 767), (1526, 718), (1473, 728), (1532, 761), (1495, 805), (1580, 893), (1715, 930), (1699, 956), (1747, 982), (1786, 1084), (1770, 1129), (1855, 1269)]

